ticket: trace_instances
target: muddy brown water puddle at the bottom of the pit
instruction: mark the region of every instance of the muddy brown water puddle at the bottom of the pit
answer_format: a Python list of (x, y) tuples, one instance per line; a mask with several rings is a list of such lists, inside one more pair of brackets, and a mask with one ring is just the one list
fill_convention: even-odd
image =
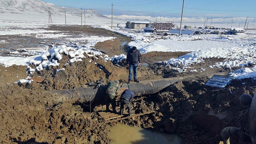
[(119, 123), (110, 130), (111, 144), (181, 144), (176, 135), (151, 132)]

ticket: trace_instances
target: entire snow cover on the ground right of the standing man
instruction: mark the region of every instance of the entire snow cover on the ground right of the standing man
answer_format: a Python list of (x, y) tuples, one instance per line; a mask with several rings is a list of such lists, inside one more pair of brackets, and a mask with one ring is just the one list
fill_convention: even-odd
[[(98, 26), (99, 27), (99, 26)], [(189, 52), (179, 58), (171, 58), (163, 63), (168, 63), (171, 69), (179, 72), (201, 71), (205, 69), (193, 69), (190, 65), (204, 62), (205, 58), (223, 58), (224, 62), (215, 63), (209, 67), (244, 67), (249, 64), (256, 64), (256, 32), (241, 35), (182, 35), (182, 36), (160, 36), (153, 33), (142, 32), (140, 30), (127, 30), (108, 26), (100, 26), (113, 32), (131, 37), (133, 41), (128, 46), (136, 46), (141, 53), (161, 51), (161, 52)], [(251, 35), (253, 34), (253, 35)], [(121, 60), (125, 55), (106, 57), (105, 60)], [(251, 70), (252, 71), (252, 70)], [(236, 72), (238, 73), (238, 72)], [(237, 74), (245, 75), (245, 74)], [(246, 74), (247, 77), (256, 78), (256, 74)], [(238, 78), (245, 78), (238, 77)]]

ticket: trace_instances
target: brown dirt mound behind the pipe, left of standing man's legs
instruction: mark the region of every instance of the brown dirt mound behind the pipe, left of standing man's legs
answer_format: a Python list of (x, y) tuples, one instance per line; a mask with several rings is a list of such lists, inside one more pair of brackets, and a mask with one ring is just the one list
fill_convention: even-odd
[[(99, 79), (105, 79), (106, 84), (112, 80), (128, 80), (128, 67), (113, 65), (111, 61), (104, 61), (99, 57), (82, 58), (83, 61), (68, 63), (69, 56), (64, 55), (59, 61), (59, 66), (50, 66), (47, 69), (32, 74), (32, 77), (40, 77), (42, 82), (32, 84), (21, 84), (26, 88), (37, 90), (59, 90), (70, 89), (89, 85), (91, 82), (96, 82)], [(123, 62), (122, 65), (126, 65)], [(35, 66), (31, 66), (35, 67)], [(63, 70), (60, 70), (63, 69)], [(159, 79), (160, 76), (153, 75), (150, 68), (140, 66), (138, 69), (139, 80)]]

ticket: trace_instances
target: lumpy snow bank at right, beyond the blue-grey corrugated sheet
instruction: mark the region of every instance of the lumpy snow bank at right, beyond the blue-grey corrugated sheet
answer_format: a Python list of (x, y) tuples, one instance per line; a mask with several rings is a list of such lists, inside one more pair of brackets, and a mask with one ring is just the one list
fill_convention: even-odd
[(164, 63), (189, 66), (194, 63), (204, 62), (204, 58), (214, 57), (225, 59), (225, 62), (216, 63), (215, 67), (224, 66), (231, 69), (232, 67), (248, 66), (249, 63), (256, 64), (256, 47), (201, 49), (180, 56), (179, 58), (171, 58)]

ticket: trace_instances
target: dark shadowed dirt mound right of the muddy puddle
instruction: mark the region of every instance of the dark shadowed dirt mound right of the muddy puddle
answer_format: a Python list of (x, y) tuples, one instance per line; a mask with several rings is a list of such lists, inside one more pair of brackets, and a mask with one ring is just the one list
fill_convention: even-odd
[[(205, 86), (206, 81), (207, 78), (188, 79), (144, 97), (141, 105), (150, 104), (156, 112), (126, 123), (178, 134), (186, 144), (215, 144), (215, 135), (224, 127), (241, 124), (247, 130), (249, 106), (241, 106), (239, 97), (244, 93), (253, 95), (255, 83), (250, 79), (233, 81), (226, 89), (215, 89)], [(230, 141), (238, 144), (239, 138), (232, 137)]]

